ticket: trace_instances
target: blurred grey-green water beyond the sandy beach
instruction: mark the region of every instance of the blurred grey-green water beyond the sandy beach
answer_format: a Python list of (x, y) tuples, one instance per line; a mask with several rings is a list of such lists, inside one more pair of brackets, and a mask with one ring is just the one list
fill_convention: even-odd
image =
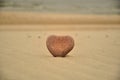
[(0, 0), (0, 11), (120, 14), (120, 0)]

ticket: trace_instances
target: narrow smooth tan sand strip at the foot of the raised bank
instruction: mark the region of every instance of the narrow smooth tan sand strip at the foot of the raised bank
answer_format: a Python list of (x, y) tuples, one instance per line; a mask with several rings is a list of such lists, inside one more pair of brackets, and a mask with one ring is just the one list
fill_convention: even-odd
[(102, 31), (120, 30), (119, 24), (84, 25), (1, 25), (0, 31)]

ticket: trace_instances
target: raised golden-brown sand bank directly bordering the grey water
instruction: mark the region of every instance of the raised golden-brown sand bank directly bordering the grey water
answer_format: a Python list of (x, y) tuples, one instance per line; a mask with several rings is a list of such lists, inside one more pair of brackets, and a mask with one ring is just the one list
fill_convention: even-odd
[(2, 24), (120, 24), (120, 15), (51, 14), (39, 12), (0, 12)]

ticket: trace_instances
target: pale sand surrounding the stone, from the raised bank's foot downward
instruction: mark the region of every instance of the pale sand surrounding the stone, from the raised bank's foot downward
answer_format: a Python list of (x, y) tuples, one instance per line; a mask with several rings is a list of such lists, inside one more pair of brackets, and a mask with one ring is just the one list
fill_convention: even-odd
[[(20, 25), (22, 20), (6, 20), (0, 18), (0, 80), (120, 80), (119, 22)], [(75, 40), (65, 58), (48, 51), (46, 39), (53, 34)]]

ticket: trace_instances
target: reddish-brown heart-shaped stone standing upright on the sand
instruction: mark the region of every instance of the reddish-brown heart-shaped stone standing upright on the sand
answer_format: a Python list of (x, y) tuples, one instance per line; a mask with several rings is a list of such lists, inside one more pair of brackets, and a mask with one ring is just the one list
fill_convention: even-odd
[(49, 36), (46, 45), (54, 57), (65, 57), (74, 47), (74, 40), (70, 36)]

